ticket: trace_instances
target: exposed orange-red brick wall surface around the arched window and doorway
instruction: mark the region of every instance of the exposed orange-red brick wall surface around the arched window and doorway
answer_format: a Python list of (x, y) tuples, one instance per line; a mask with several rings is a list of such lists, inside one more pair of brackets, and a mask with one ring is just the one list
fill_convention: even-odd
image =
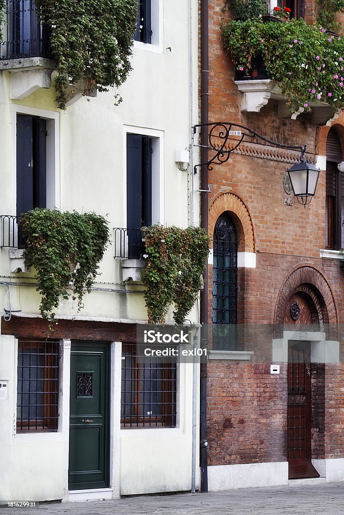
[[(239, 123), (275, 142), (306, 144), (309, 157), (325, 155), (330, 128), (314, 127), (310, 114), (303, 113), (296, 120), (279, 120), (275, 100), (270, 100), (259, 113), (240, 112), (241, 97), (234, 84), (235, 66), (223, 50), (220, 35), (221, 21), (230, 14), (222, 13), (222, 1), (209, 3), (209, 122)], [(313, 16), (313, 7), (312, 2), (306, 2), (308, 21)], [(343, 122), (341, 114), (336, 124), (341, 126)], [(256, 268), (238, 270), (238, 321), (272, 324), (284, 281), (292, 270), (308, 265), (317, 270), (314, 281), (321, 274), (328, 285), (327, 293), (322, 294), (324, 311), (327, 310), (330, 320), (343, 323), (344, 272), (338, 261), (321, 259), (319, 253), (325, 245), (325, 173), (320, 174), (316, 198), (306, 209), (296, 200), (289, 206), (284, 203), (283, 188), (289, 166), (287, 162), (232, 153), (227, 163), (214, 166), (209, 172), (209, 233), (212, 235), (221, 214), (221, 203), (214, 202), (214, 198), (228, 191), (242, 199), (254, 228)], [(239, 251), (244, 250), (247, 242), (245, 230), (250, 233), (248, 228), (237, 228)], [(211, 290), (212, 267), (209, 266), (209, 322)], [(245, 342), (247, 349), (255, 353), (252, 363), (208, 362), (210, 465), (287, 459), (287, 366), (281, 366), (280, 375), (270, 374), (272, 336), (264, 335), (264, 326), (259, 331), (255, 338), (251, 335)], [(336, 337), (331, 334), (331, 339)], [(342, 457), (344, 368), (313, 365), (312, 373), (313, 457)]]

